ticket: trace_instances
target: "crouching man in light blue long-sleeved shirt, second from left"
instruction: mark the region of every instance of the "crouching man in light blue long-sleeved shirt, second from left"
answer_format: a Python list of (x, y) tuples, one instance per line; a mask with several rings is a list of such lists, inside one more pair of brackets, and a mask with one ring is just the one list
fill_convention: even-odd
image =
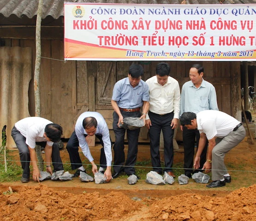
[[(71, 168), (77, 169), (75, 176), (80, 175), (80, 171), (85, 172), (82, 165), (81, 158), (78, 153), (78, 145), (83, 151), (83, 155), (92, 164), (93, 174), (98, 172), (97, 166), (94, 163), (94, 159), (91, 155), (89, 146), (85, 140), (85, 137), (95, 135), (100, 141), (101, 145), (101, 157), (100, 157), (100, 169), (101, 173), (104, 173), (107, 178), (107, 182), (112, 179), (111, 174), (111, 163), (112, 163), (112, 152), (111, 152), (111, 140), (109, 136), (109, 130), (107, 123), (103, 116), (98, 112), (87, 111), (82, 113), (76, 122), (75, 131), (71, 134), (70, 139), (67, 142), (66, 148), (69, 153)], [(106, 169), (107, 168), (107, 169)], [(104, 169), (105, 172), (104, 172)]]

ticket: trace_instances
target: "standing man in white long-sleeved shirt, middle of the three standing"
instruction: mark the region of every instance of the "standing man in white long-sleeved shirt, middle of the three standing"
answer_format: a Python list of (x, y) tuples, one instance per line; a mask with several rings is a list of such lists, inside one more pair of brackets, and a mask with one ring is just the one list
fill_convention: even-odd
[(169, 175), (175, 177), (173, 167), (173, 134), (177, 128), (180, 108), (179, 83), (169, 76), (170, 66), (165, 62), (157, 64), (156, 75), (149, 78), (149, 114), (146, 127), (149, 129), (150, 153), (154, 171), (162, 174), (160, 161), (160, 133), (164, 137), (165, 168)]

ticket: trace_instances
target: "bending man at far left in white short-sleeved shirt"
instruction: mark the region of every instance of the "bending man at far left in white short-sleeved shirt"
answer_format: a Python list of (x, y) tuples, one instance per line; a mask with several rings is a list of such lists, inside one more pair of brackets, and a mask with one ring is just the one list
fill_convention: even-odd
[(27, 117), (15, 123), (12, 128), (12, 138), (15, 141), (23, 174), (21, 182), (30, 180), (30, 160), (33, 166), (33, 180), (39, 182), (40, 171), (37, 166), (36, 145), (44, 147), (46, 171), (52, 174), (51, 158), (54, 170), (63, 170), (60, 149), (56, 142), (60, 141), (62, 127), (42, 117)]

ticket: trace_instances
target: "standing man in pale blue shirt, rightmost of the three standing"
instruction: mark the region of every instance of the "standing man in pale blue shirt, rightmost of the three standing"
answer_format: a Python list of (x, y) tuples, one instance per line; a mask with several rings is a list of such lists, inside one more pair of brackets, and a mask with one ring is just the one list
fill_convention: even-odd
[[(197, 114), (204, 110), (215, 110), (219, 111), (217, 104), (217, 96), (214, 86), (208, 81), (203, 80), (203, 67), (200, 64), (193, 64), (189, 77), (191, 81), (187, 81), (181, 90), (180, 100), (180, 115), (184, 112), (193, 112)], [(193, 173), (193, 157), (195, 150), (195, 139), (196, 146), (198, 148), (199, 132), (197, 129), (188, 130), (181, 126), (183, 130), (183, 144), (184, 144), (184, 168), (185, 175), (191, 178)], [(203, 163), (206, 161), (207, 145), (205, 144), (202, 150), (199, 169), (202, 169)], [(195, 171), (198, 172), (198, 171)]]

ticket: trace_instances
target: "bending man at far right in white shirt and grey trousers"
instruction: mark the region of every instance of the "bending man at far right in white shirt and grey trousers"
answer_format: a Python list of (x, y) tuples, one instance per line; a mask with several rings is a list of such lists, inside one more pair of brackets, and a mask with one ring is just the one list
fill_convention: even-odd
[[(221, 111), (201, 111), (197, 114), (184, 112), (180, 117), (181, 125), (189, 130), (199, 130), (199, 145), (194, 159), (194, 168), (200, 167), (200, 156), (208, 139), (207, 160), (202, 169), (209, 172), (212, 169), (213, 182), (207, 187), (225, 186), (231, 182), (224, 157), (225, 154), (238, 145), (245, 137), (246, 132), (241, 122)], [(202, 165), (201, 165), (202, 166)]]

